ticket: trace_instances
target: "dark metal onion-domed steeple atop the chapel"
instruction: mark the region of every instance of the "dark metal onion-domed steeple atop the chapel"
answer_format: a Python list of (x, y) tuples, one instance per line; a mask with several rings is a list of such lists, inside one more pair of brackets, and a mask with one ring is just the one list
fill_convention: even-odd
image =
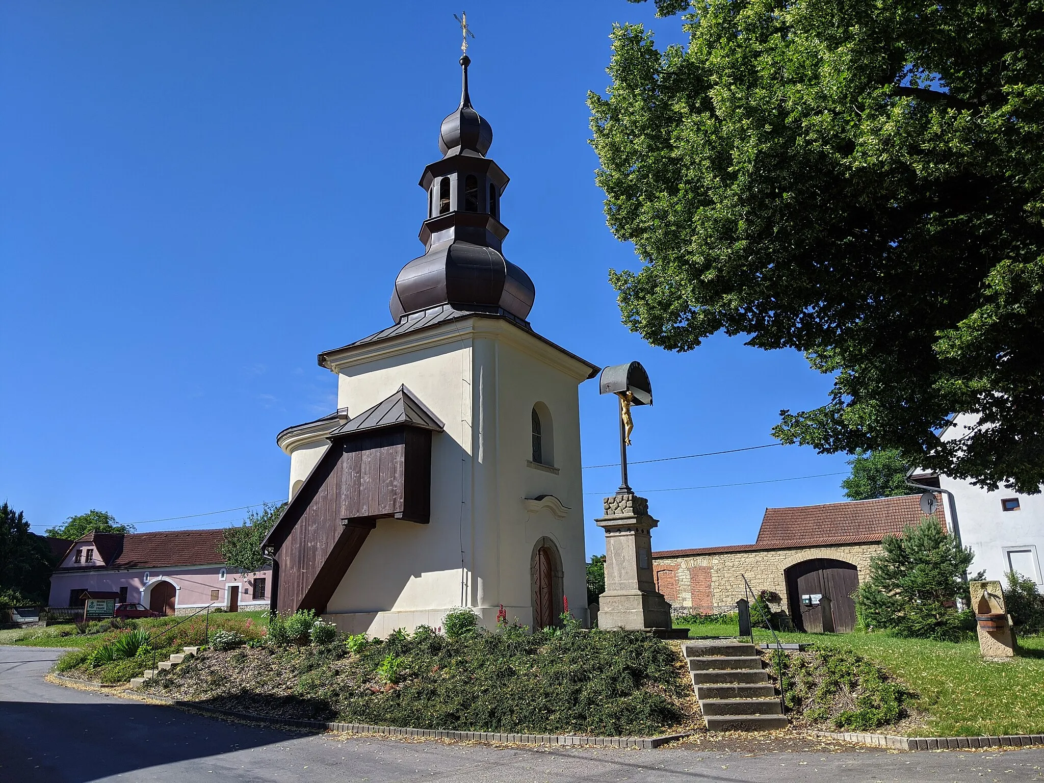
[(421, 226), (425, 253), (399, 272), (389, 310), (404, 315), (450, 306), (458, 310), (511, 314), (525, 321), (537, 295), (529, 276), (504, 258), (507, 229), (500, 222), (500, 195), (507, 175), (485, 158), (493, 128), (471, 105), (470, 57), (460, 57), (460, 105), (443, 120), (443, 159), (429, 164), (420, 185), (428, 193)]

